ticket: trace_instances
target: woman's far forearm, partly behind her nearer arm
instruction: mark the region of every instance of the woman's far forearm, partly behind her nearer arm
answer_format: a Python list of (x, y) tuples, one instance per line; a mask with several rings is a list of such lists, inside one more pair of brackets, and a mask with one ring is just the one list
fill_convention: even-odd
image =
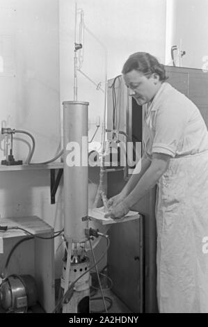
[(128, 194), (131, 193), (139, 180), (141, 180), (145, 171), (150, 167), (150, 163), (151, 161), (145, 155), (142, 157), (141, 162), (137, 163), (134, 173), (131, 175), (131, 178), (122, 190), (124, 196), (128, 196)]

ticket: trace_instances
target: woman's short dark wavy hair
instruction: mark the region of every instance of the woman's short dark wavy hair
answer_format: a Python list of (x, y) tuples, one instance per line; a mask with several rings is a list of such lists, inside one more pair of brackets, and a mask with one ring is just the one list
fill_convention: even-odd
[(127, 72), (131, 72), (131, 70), (137, 70), (147, 77), (156, 73), (159, 75), (159, 80), (161, 82), (166, 81), (168, 78), (166, 77), (164, 66), (159, 63), (157, 58), (147, 52), (136, 52), (129, 56), (122, 68), (122, 74), (127, 74)]

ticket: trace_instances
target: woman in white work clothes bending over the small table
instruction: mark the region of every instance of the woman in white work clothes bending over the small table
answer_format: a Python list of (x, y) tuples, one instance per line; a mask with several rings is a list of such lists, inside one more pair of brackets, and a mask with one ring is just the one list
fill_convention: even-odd
[(157, 184), (157, 298), (160, 312), (208, 312), (208, 132), (190, 99), (166, 83), (163, 65), (132, 54), (122, 74), (129, 95), (147, 104), (141, 172), (109, 200), (121, 218)]

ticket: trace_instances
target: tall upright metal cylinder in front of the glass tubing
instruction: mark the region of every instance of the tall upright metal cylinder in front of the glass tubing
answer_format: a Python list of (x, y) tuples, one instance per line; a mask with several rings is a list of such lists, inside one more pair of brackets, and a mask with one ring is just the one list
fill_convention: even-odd
[(63, 102), (66, 240), (86, 241), (88, 228), (88, 102)]

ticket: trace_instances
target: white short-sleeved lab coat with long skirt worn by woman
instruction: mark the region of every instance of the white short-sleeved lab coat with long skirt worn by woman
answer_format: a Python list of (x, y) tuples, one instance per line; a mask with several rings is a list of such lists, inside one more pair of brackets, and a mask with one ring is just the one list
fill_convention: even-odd
[(154, 152), (171, 157), (157, 194), (159, 312), (208, 312), (205, 122), (189, 99), (163, 83), (147, 108), (143, 141), (150, 159)]

